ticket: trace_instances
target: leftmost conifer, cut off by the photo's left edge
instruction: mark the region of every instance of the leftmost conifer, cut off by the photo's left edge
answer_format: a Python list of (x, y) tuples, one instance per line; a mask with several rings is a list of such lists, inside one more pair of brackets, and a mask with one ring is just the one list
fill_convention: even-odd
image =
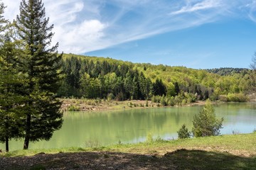
[(4, 4), (0, 4), (0, 142), (5, 142), (9, 151), (9, 140), (22, 136), (23, 96), (18, 87), (22, 75), (16, 72), (16, 42), (11, 40), (11, 24), (4, 19)]

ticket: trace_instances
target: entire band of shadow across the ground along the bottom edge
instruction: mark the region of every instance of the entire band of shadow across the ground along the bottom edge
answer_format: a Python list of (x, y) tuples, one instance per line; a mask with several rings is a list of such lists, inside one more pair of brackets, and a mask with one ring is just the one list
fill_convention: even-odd
[(164, 156), (120, 152), (36, 154), (0, 157), (0, 169), (256, 169), (256, 157), (179, 149)]

